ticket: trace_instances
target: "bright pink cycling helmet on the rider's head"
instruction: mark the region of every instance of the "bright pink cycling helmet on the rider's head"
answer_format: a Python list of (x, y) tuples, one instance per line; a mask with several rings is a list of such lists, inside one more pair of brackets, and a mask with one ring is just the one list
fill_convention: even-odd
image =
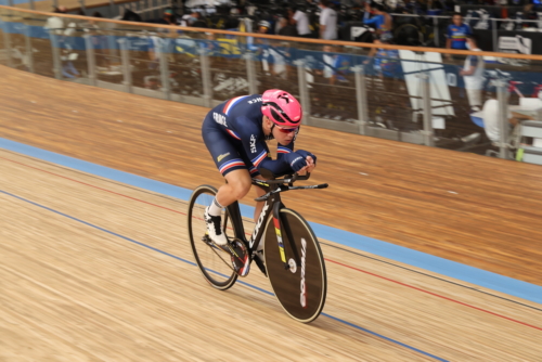
[(261, 113), (275, 125), (299, 127), (304, 113), (294, 95), (280, 89), (270, 89), (263, 92), (261, 99)]

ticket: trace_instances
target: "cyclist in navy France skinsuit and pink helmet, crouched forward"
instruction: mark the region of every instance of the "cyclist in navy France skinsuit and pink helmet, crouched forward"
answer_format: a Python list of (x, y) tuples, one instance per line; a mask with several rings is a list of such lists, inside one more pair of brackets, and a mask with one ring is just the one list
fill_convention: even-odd
[[(313, 154), (304, 150), (294, 151), (301, 116), (301, 105), (292, 94), (271, 89), (263, 94), (225, 101), (205, 117), (202, 127), (205, 145), (227, 180), (205, 209), (209, 237), (219, 247), (228, 244), (221, 229), (222, 208), (248, 193), (251, 178), (263, 180), (258, 171), (260, 168), (276, 176), (311, 172), (314, 169), (317, 157)], [(279, 142), (276, 159), (271, 159), (266, 144), (272, 139)], [(262, 189), (256, 190), (258, 196), (264, 194)], [(255, 221), (262, 207), (263, 202), (256, 204)]]

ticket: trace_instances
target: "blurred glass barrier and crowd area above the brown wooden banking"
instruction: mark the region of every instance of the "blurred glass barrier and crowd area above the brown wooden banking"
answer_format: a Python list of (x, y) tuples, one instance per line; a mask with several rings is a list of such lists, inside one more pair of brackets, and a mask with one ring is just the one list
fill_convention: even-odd
[(538, 1), (2, 1), (17, 69), (207, 107), (284, 88), (307, 125), (541, 163)]

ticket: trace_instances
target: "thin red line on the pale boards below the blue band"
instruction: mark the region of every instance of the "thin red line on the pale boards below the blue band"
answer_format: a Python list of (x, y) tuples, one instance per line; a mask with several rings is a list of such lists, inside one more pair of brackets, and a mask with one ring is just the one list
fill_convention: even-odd
[[(122, 197), (127, 197), (127, 198), (130, 198), (130, 199), (133, 199), (133, 201), (137, 201), (137, 202), (140, 202), (140, 203), (144, 203), (144, 204), (147, 204), (147, 205), (152, 205), (152, 206), (156, 206), (156, 207), (159, 207), (159, 208), (163, 208), (165, 210), (168, 210), (168, 211), (173, 211), (173, 212), (177, 212), (177, 214), (181, 214), (181, 215), (186, 215), (185, 212), (181, 212), (181, 211), (177, 211), (177, 210), (173, 210), (173, 209), (170, 209), (170, 208), (167, 208), (167, 207), (164, 207), (164, 206), (159, 206), (159, 205), (156, 205), (156, 204), (153, 204), (153, 203), (147, 203), (147, 202), (144, 202), (142, 199), (139, 199), (139, 198), (136, 198), (136, 197), (131, 197), (131, 196), (127, 196), (127, 195), (122, 195), (122, 194), (119, 194), (117, 192), (114, 192), (114, 191), (111, 191), (111, 190), (107, 190), (107, 189), (102, 189), (102, 188), (99, 188), (99, 186), (94, 186), (90, 183), (86, 183), (86, 182), (81, 182), (81, 181), (77, 181), (77, 180), (74, 180), (74, 179), (70, 179), (70, 178), (67, 178), (65, 176), (62, 176), (62, 174), (57, 174), (57, 173), (54, 173), (54, 172), (50, 172), (50, 171), (46, 171), (43, 169), (40, 169), (40, 168), (37, 168), (37, 167), (33, 167), (33, 166), (28, 166), (26, 164), (22, 164), (22, 163), (18, 163), (18, 161), (15, 161), (15, 160), (12, 160), (12, 159), (9, 159), (9, 158), (4, 158), (4, 157), (0, 157), (1, 159), (5, 159), (5, 160), (9, 160), (11, 163), (14, 163), (14, 164), (17, 164), (17, 165), (22, 165), (22, 166), (25, 166), (25, 167), (29, 167), (29, 168), (33, 168), (35, 170), (38, 170), (38, 171), (42, 171), (42, 172), (46, 172), (46, 173), (49, 173), (49, 174), (53, 174), (53, 176), (56, 176), (56, 177), (60, 177), (60, 178), (63, 178), (63, 179), (66, 179), (66, 180), (69, 180), (69, 181), (74, 181), (74, 182), (77, 182), (77, 183), (80, 183), (80, 184), (83, 184), (83, 185), (87, 185), (87, 186), (90, 186), (90, 188), (94, 188), (94, 189), (98, 189), (98, 190), (102, 190), (102, 191), (105, 191), (105, 192), (108, 192), (108, 193), (112, 193), (112, 194), (115, 194), (115, 195), (118, 195), (118, 196), (122, 196)], [(248, 233), (246, 233), (248, 235)], [(358, 269), (358, 268), (354, 268), (354, 267), (351, 267), (351, 266), (348, 266), (348, 264), (344, 264), (341, 262), (338, 262), (338, 261), (335, 261), (335, 260), (332, 260), (332, 259), (327, 259), (325, 258), (326, 261), (330, 261), (330, 262), (333, 262), (333, 263), (336, 263), (338, 266), (341, 266), (341, 267), (345, 267), (345, 268), (349, 268), (349, 269), (352, 269), (352, 270), (356, 270), (356, 271), (359, 271), (359, 272), (362, 272), (362, 273), (365, 273), (365, 274), (369, 274), (369, 275), (373, 275), (373, 276), (376, 276), (376, 277), (379, 277), (379, 279), (383, 279), (383, 280), (386, 280), (388, 282), (391, 282), (391, 283), (396, 283), (396, 284), (399, 284), (399, 285), (402, 285), (402, 286), (405, 286), (405, 287), (409, 287), (409, 288), (412, 288), (412, 289), (415, 289), (415, 290), (418, 290), (418, 292), (422, 292), (422, 293), (426, 293), (426, 294), (429, 294), (431, 296), (435, 296), (435, 297), (438, 297), (438, 298), (442, 298), (442, 299), (446, 299), (446, 300), (449, 300), (449, 301), (453, 301), (453, 302), (456, 302), (459, 305), (462, 305), (462, 306), (465, 306), (465, 307), (468, 307), (468, 308), (473, 308), (473, 309), (476, 309), (478, 311), (481, 311), (481, 312), (485, 312), (485, 313), (489, 313), (491, 315), (495, 315), (495, 316), (499, 316), (499, 318), (503, 318), (505, 320), (508, 320), (508, 321), (512, 321), (512, 322), (516, 322), (516, 323), (519, 323), (519, 324), (522, 324), (525, 326), (528, 326), (528, 327), (531, 327), (531, 328), (534, 328), (534, 329), (539, 329), (539, 331), (542, 331), (541, 327), (538, 327), (538, 326), (534, 326), (534, 325), (531, 325), (531, 324), (527, 324), (525, 322), (521, 322), (521, 321), (517, 321), (517, 320), (514, 320), (512, 318), (508, 318), (508, 316), (505, 316), (505, 315), (502, 315), (502, 314), (498, 314), (498, 313), (494, 313), (494, 312), (491, 312), (489, 310), (486, 310), (486, 309), (481, 309), (481, 308), (478, 308), (478, 307), (475, 307), (475, 306), (470, 306), (470, 305), (467, 305), (463, 301), (460, 301), (460, 300), (455, 300), (455, 299), (452, 299), (452, 298), (448, 298), (448, 297), (444, 297), (444, 296), (441, 296), (439, 294), (436, 294), (436, 293), (433, 293), (433, 292), (429, 292), (429, 290), (425, 290), (425, 289), (422, 289), (422, 288), (418, 288), (416, 286), (413, 286), (413, 285), (409, 285), (409, 284), (405, 284), (405, 283), (401, 283), (401, 282), (398, 282), (398, 281), (395, 281), (392, 279), (389, 279), (389, 277), (386, 277), (386, 276), (382, 276), (382, 275), (378, 275), (378, 274), (374, 274), (374, 273), (371, 273), (371, 272), (367, 272), (365, 270), (361, 270), (361, 269)]]

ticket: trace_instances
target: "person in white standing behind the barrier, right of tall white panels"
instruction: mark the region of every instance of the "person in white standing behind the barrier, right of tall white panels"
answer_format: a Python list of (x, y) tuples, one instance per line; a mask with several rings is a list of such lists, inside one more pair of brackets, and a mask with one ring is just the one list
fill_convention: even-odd
[[(466, 40), (466, 48), (472, 51), (481, 51), (476, 46), (474, 36), (468, 36)], [(483, 56), (468, 55), (465, 60), (465, 65), (460, 74), (464, 77), (465, 90), (468, 96), (468, 104), (472, 112), (481, 109), (481, 91), (483, 89)]]

